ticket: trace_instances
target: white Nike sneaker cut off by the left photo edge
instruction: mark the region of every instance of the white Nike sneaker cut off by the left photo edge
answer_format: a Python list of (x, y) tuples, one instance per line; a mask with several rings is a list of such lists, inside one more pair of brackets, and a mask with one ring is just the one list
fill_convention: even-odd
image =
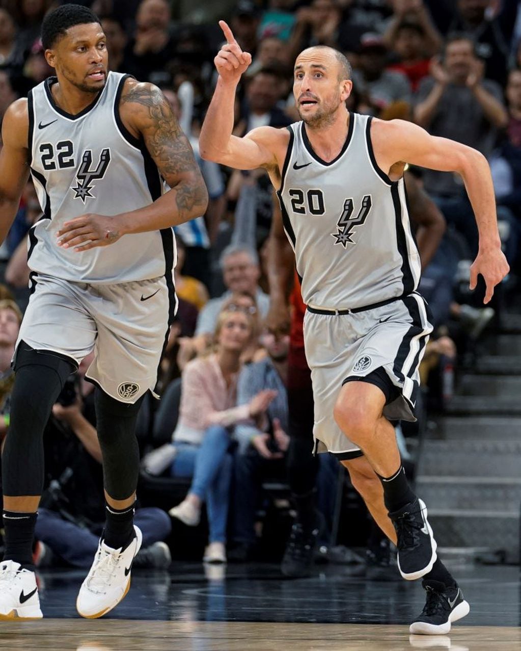
[(0, 620), (41, 619), (36, 575), (20, 563), (0, 563)]

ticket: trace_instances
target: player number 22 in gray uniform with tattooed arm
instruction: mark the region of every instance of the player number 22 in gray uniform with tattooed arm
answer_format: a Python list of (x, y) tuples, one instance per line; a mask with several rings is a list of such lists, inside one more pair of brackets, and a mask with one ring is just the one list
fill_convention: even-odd
[[(47, 14), (42, 42), (56, 77), (9, 107), (0, 154), (0, 240), (29, 173), (44, 212), (29, 232), (33, 294), (14, 357), (2, 458), (0, 618), (42, 617), (31, 564), (42, 433), (64, 381), (92, 349), (87, 376), (97, 387), (107, 508), (77, 610), (95, 618), (125, 596), (142, 539), (133, 526), (134, 430), (176, 309), (172, 225), (203, 214), (207, 193), (161, 92), (107, 73), (105, 35), (92, 11), (64, 5)], [(172, 188), (166, 193), (163, 179)]]

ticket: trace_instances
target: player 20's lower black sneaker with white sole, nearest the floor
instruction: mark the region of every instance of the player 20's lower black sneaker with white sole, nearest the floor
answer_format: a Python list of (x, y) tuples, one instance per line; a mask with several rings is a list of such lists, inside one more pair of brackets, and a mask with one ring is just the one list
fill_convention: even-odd
[(470, 605), (464, 600), (457, 585), (448, 588), (441, 581), (432, 579), (423, 579), (421, 585), (427, 590), (427, 601), (420, 616), (410, 625), (409, 632), (420, 635), (446, 635), (451, 630), (452, 622), (468, 615)]

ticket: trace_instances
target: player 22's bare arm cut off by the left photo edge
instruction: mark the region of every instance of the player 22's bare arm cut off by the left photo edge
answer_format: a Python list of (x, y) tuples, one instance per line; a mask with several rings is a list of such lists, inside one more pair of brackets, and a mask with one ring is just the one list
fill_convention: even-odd
[(0, 243), (13, 223), (23, 187), (29, 178), (29, 113), (27, 100), (16, 100), (2, 122), (0, 152)]

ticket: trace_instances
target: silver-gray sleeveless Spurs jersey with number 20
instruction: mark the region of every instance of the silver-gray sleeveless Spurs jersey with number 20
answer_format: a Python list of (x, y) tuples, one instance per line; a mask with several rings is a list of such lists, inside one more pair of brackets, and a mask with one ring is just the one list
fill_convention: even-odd
[(306, 305), (354, 309), (407, 296), (420, 281), (403, 178), (378, 167), (371, 118), (350, 114), (340, 154), (327, 163), (303, 122), (291, 134), (278, 191)]

